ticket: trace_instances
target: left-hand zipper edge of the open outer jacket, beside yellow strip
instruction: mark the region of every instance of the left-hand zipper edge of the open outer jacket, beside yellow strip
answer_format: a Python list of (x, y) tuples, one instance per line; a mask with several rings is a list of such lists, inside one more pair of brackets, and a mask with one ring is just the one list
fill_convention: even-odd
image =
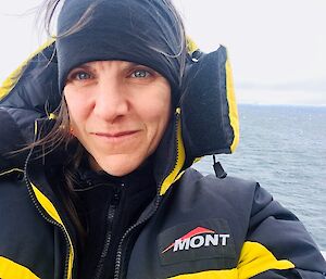
[(39, 203), (38, 203), (38, 201), (37, 201), (35, 194), (34, 194), (34, 191), (33, 191), (30, 181), (29, 181), (28, 178), (27, 178), (27, 162), (28, 162), (29, 158), (30, 158), (30, 154), (32, 154), (32, 152), (29, 152), (29, 154), (28, 154), (28, 156), (27, 156), (27, 158), (26, 158), (26, 161), (25, 161), (25, 166), (24, 166), (24, 180), (25, 180), (25, 183), (26, 183), (26, 186), (27, 186), (28, 194), (29, 194), (29, 198), (30, 198), (32, 201), (33, 201), (33, 204), (35, 205), (35, 207), (37, 208), (37, 211), (39, 212), (39, 214), (42, 216), (42, 218), (43, 218), (46, 221), (48, 221), (48, 223), (50, 223), (50, 224), (52, 224), (52, 225), (59, 227), (60, 230), (63, 232), (64, 240), (65, 240), (65, 243), (66, 243), (65, 261), (64, 261), (64, 276), (63, 276), (63, 278), (64, 278), (64, 279), (65, 279), (65, 278), (66, 278), (66, 279), (70, 279), (70, 278), (67, 277), (67, 275), (68, 275), (68, 262), (70, 262), (70, 246), (71, 246), (71, 244), (70, 244), (70, 239), (68, 239), (67, 232), (65, 231), (65, 228), (64, 228), (61, 224), (59, 224), (58, 221), (55, 221), (55, 220), (53, 220), (52, 218), (48, 217), (48, 216), (43, 213), (43, 211), (40, 208), (40, 206), (39, 206)]

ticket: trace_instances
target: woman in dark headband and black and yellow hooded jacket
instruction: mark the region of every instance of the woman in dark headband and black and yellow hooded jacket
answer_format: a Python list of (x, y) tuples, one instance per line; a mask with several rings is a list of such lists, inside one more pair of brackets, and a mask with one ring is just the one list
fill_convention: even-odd
[(0, 91), (0, 278), (324, 278), (258, 183), (190, 168), (238, 126), (225, 49), (186, 45), (168, 0), (64, 1)]

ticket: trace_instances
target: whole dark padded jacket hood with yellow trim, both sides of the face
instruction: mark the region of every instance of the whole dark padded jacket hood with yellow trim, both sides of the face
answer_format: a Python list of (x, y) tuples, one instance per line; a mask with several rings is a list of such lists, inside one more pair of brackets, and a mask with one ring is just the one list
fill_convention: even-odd
[[(195, 161), (231, 153), (239, 139), (227, 51), (202, 53), (188, 41), (181, 98), (154, 157), (154, 175), (164, 194)], [(36, 119), (51, 118), (61, 96), (55, 41), (42, 46), (0, 88), (0, 172), (24, 165), (26, 152), (8, 155), (36, 137)]]

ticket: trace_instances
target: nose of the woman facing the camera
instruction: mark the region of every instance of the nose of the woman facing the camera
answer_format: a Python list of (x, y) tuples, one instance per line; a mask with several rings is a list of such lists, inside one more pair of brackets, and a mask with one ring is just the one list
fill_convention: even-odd
[(129, 105), (123, 85), (117, 80), (104, 79), (97, 87), (93, 113), (98, 117), (112, 122), (127, 114)]

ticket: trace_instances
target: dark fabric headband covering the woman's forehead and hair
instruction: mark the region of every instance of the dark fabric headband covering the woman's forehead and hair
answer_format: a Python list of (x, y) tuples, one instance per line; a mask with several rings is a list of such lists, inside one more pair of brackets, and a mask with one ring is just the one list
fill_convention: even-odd
[[(85, 25), (65, 36), (88, 8)], [(177, 91), (183, 47), (178, 26), (163, 0), (66, 0), (58, 20), (58, 34), (63, 35), (57, 40), (59, 89), (80, 64), (122, 60), (155, 69)]]

